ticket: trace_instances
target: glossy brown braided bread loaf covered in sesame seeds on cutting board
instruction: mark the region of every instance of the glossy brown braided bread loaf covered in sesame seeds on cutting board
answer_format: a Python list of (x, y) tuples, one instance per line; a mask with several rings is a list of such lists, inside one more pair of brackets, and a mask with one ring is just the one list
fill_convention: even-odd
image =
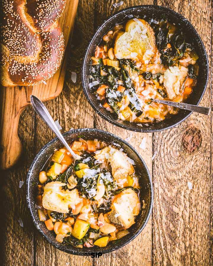
[[(1, 84), (30, 86), (59, 68), (64, 38), (58, 19), (65, 0), (3, 0)], [(2, 11), (1, 11), (2, 12)]]

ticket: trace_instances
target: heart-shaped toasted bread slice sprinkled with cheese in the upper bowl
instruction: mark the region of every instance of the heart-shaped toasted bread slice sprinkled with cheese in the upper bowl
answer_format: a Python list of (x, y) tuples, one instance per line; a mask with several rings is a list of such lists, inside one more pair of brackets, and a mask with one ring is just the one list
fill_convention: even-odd
[(115, 38), (114, 54), (118, 59), (132, 59), (148, 64), (155, 49), (154, 31), (145, 20), (129, 20), (125, 32), (118, 33)]

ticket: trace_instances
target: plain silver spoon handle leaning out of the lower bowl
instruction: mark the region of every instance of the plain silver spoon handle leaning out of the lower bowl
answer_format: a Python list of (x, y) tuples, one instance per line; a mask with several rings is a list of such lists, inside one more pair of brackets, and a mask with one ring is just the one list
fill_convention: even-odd
[(43, 105), (43, 103), (34, 95), (30, 95), (31, 104), (35, 110), (35, 112), (41, 117), (41, 119), (49, 126), (49, 128), (56, 134), (58, 139), (63, 143), (63, 145), (67, 148), (67, 150), (72, 154), (73, 158), (76, 160), (77, 155), (70, 148), (61, 132), (57, 128), (54, 120), (52, 119), (50, 113), (47, 108)]

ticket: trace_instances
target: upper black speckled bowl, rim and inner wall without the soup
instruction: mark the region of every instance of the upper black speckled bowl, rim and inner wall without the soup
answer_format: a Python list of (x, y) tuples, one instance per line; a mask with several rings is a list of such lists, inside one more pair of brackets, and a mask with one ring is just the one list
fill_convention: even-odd
[(93, 56), (96, 45), (98, 45), (101, 41), (103, 35), (105, 35), (116, 23), (125, 22), (128, 19), (128, 15), (134, 15), (135, 17), (147, 15), (152, 16), (153, 18), (165, 16), (168, 20), (179, 25), (182, 29), (183, 33), (192, 40), (192, 43), (195, 47), (196, 53), (199, 56), (198, 64), (199, 64), (199, 77), (197, 79), (197, 86), (195, 87), (191, 97), (188, 98), (188, 103), (198, 105), (201, 101), (201, 98), (204, 95), (206, 90), (206, 85), (208, 82), (208, 74), (209, 74), (209, 64), (208, 58), (206, 55), (206, 50), (204, 44), (191, 25), (191, 23), (182, 15), (176, 13), (175, 11), (168, 9), (166, 7), (155, 6), (155, 5), (143, 5), (136, 7), (128, 7), (123, 9), (111, 17), (109, 17), (104, 23), (98, 28), (96, 33), (93, 35), (91, 41), (88, 44), (86, 49), (86, 53), (83, 59), (83, 67), (82, 67), (82, 84), (83, 90), (88, 99), (89, 103), (93, 107), (93, 109), (104, 119), (109, 121), (110, 123), (120, 126), (122, 128), (138, 131), (138, 132), (156, 132), (164, 129), (168, 129), (170, 127), (178, 125), (180, 122), (184, 121), (188, 116), (191, 115), (192, 112), (180, 110), (177, 115), (172, 116), (169, 119), (165, 119), (159, 123), (153, 123), (149, 126), (141, 124), (138, 126), (137, 123), (130, 123), (128, 121), (122, 121), (117, 119), (117, 117), (108, 111), (105, 108), (99, 106), (100, 102), (96, 99), (96, 95), (92, 93), (92, 90), (89, 89), (89, 76), (90, 76), (90, 58)]

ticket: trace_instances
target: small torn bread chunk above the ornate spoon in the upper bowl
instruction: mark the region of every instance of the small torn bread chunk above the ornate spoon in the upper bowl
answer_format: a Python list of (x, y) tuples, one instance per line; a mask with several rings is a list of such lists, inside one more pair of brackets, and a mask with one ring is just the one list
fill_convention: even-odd
[(164, 76), (160, 79), (163, 81), (166, 88), (168, 97), (170, 99), (175, 98), (180, 93), (180, 88), (183, 85), (185, 77), (188, 74), (188, 68), (186, 67), (169, 67)]

